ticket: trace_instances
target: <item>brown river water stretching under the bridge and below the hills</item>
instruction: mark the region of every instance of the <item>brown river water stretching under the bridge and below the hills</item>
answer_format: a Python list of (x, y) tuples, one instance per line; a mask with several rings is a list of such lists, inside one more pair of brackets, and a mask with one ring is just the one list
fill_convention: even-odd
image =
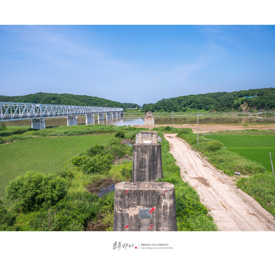
[[(60, 117), (49, 117), (45, 118), (46, 126), (67, 126), (67, 118), (65, 116)], [(6, 126), (31, 126), (30, 120), (13, 120), (4, 121)], [(77, 124), (86, 123), (85, 116), (78, 116)], [(275, 123), (275, 117), (259, 117), (253, 116), (237, 116), (237, 115), (225, 115), (225, 116), (204, 116), (199, 115), (199, 124), (252, 124), (252, 123)], [(94, 124), (103, 125), (115, 125), (115, 126), (132, 126), (132, 125), (143, 125), (144, 117), (138, 116), (120, 116), (112, 120), (97, 120), (97, 115), (95, 115)], [(165, 116), (155, 116), (155, 124), (157, 125), (167, 125), (172, 124), (172, 117)], [(174, 124), (197, 124), (197, 116), (180, 116), (174, 117)]]

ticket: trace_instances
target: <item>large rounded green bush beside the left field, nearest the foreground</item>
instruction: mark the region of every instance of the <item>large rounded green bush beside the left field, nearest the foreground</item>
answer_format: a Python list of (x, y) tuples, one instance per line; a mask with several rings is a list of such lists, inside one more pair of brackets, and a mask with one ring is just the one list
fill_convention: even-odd
[(28, 172), (12, 180), (7, 197), (17, 200), (22, 211), (35, 211), (53, 206), (67, 193), (65, 179), (55, 174)]

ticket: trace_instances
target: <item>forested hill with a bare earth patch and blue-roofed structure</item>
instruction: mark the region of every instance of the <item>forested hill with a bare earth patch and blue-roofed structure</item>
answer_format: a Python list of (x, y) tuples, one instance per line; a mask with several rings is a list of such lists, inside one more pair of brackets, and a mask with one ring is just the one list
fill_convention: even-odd
[(249, 89), (228, 92), (207, 93), (199, 95), (185, 95), (168, 99), (161, 99), (155, 104), (144, 104), (145, 111), (184, 112), (194, 109), (207, 111), (230, 112), (232, 110), (274, 110), (275, 88)]

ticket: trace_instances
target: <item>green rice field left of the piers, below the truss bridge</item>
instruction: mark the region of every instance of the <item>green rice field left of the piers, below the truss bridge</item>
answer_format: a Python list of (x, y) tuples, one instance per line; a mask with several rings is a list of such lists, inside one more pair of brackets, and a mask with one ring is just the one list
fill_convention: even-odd
[(114, 135), (35, 137), (0, 145), (0, 195), (15, 177), (27, 171), (57, 173), (74, 155), (103, 145)]

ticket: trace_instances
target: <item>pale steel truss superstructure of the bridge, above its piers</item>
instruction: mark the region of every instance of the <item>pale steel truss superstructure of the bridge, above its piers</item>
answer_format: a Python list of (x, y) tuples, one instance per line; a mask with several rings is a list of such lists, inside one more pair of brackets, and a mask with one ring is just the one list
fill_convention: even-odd
[(0, 102), (0, 121), (115, 112), (123, 112), (123, 108)]

